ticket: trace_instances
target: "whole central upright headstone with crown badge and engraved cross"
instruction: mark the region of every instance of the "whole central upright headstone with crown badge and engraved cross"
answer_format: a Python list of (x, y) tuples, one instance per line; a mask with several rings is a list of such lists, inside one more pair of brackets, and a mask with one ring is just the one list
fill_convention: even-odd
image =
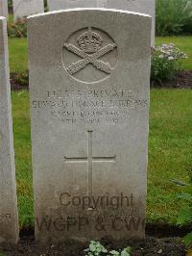
[(144, 238), (151, 17), (39, 14), (28, 35), (36, 239)]

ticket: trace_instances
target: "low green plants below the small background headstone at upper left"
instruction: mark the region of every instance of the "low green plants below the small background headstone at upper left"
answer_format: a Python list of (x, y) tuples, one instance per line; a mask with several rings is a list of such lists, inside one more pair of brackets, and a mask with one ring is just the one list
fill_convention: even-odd
[(27, 38), (27, 21), (18, 19), (15, 23), (8, 24), (9, 38)]

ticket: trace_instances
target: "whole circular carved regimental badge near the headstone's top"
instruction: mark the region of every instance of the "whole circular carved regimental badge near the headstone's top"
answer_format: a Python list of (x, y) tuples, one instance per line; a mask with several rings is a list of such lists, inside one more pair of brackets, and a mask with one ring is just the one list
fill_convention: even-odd
[(63, 46), (65, 70), (73, 78), (86, 83), (108, 77), (114, 70), (116, 55), (117, 46), (113, 39), (91, 27), (73, 34)]

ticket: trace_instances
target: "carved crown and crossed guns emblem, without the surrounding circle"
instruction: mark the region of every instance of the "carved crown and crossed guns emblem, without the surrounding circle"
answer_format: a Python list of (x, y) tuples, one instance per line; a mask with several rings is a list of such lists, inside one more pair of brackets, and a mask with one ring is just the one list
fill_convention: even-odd
[(68, 51), (82, 58), (82, 60), (72, 63), (66, 68), (69, 74), (73, 75), (77, 73), (87, 64), (92, 64), (97, 69), (107, 74), (111, 73), (113, 67), (99, 59), (108, 54), (110, 51), (114, 50), (114, 48), (116, 48), (115, 43), (110, 43), (101, 48), (103, 39), (99, 34), (92, 32), (91, 28), (88, 28), (88, 31), (78, 38), (78, 42), (80, 48), (71, 43), (64, 44), (64, 47)]

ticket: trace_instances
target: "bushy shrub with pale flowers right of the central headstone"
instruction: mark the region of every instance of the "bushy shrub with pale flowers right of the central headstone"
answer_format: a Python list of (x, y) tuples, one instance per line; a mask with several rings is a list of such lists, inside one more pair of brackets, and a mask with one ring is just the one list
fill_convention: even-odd
[(165, 81), (174, 79), (181, 69), (180, 60), (187, 56), (175, 44), (162, 44), (152, 51), (152, 80)]

